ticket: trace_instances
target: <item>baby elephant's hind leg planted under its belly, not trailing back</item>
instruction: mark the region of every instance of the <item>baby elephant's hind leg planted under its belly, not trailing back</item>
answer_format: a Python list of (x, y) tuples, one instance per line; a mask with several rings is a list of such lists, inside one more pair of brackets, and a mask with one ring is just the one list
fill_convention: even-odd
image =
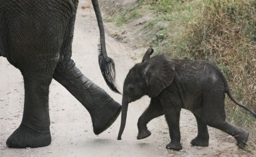
[(207, 129), (207, 124), (201, 120), (197, 115), (196, 122), (198, 124), (198, 136), (196, 136), (193, 140), (191, 140), (191, 145), (196, 145), (200, 147), (207, 147), (209, 145), (209, 133)]

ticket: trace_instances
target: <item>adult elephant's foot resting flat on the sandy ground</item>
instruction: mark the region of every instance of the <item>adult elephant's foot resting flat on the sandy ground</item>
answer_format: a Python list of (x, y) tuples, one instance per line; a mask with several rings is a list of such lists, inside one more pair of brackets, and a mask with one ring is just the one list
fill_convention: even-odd
[(50, 145), (51, 141), (50, 129), (46, 131), (35, 131), (24, 124), (20, 124), (7, 139), (6, 145), (10, 148), (36, 148)]

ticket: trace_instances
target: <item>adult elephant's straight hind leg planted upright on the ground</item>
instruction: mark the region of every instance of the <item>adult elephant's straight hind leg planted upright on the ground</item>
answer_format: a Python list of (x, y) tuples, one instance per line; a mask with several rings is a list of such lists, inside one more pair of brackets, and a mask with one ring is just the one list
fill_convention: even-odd
[(25, 86), (23, 118), (20, 126), (7, 139), (7, 147), (35, 148), (50, 144), (49, 85), (56, 63), (53, 59), (22, 71)]

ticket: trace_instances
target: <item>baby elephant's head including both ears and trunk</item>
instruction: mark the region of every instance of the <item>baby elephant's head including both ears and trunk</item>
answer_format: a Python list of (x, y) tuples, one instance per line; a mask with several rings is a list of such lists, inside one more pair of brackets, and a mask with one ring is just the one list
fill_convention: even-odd
[(144, 95), (150, 98), (158, 96), (174, 80), (174, 61), (168, 55), (161, 54), (150, 58), (153, 48), (148, 48), (142, 63), (135, 64), (124, 80), (122, 96), (122, 117), (118, 140), (126, 126), (128, 104)]

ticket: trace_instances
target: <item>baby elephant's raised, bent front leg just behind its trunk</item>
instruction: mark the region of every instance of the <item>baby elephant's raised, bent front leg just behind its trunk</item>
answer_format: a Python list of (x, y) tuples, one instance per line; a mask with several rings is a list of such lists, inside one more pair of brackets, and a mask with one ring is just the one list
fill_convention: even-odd
[(151, 132), (146, 127), (149, 121), (153, 120), (153, 118), (159, 117), (164, 114), (162, 110), (161, 102), (158, 98), (152, 98), (150, 101), (150, 105), (145, 112), (142, 113), (140, 118), (138, 118), (138, 136), (137, 139), (145, 139), (146, 137), (151, 135)]

